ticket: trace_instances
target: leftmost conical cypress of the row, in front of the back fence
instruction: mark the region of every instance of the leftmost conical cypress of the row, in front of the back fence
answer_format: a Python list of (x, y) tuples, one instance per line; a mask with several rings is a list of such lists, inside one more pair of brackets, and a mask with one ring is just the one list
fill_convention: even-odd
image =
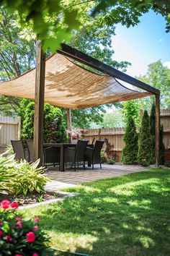
[(125, 148), (122, 150), (122, 163), (137, 163), (138, 155), (138, 134), (136, 132), (135, 121), (132, 116), (128, 117), (128, 124), (125, 129)]

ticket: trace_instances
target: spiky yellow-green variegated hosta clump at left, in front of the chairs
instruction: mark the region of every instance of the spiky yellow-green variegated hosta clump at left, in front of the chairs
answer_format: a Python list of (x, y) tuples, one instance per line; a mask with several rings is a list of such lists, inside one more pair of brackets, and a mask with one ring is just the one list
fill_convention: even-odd
[(44, 168), (37, 168), (39, 161), (17, 163), (14, 155), (4, 157), (0, 155), (0, 193), (8, 192), (15, 195), (27, 195), (33, 192), (45, 192), (45, 183), (50, 181), (42, 173)]

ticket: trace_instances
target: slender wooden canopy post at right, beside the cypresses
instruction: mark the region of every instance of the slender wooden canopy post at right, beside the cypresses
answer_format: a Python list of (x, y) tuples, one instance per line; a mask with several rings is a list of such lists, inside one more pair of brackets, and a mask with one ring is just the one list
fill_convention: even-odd
[(160, 151), (160, 95), (155, 95), (156, 100), (156, 140), (155, 140), (155, 150), (156, 150), (156, 167), (159, 166), (159, 151)]

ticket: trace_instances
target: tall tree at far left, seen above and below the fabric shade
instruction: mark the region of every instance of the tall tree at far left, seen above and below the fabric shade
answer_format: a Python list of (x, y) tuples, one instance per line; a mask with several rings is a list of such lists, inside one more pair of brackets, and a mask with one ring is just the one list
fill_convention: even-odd
[[(29, 28), (22, 30), (17, 12), (0, 7), (0, 81), (11, 80), (35, 67), (35, 37)], [(16, 113), (21, 99), (0, 96), (0, 111)]]

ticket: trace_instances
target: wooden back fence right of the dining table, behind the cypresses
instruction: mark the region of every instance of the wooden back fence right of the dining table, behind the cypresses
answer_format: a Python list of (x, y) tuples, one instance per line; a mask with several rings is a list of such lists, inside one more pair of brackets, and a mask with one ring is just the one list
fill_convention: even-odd
[[(143, 112), (140, 112), (141, 116)], [(164, 145), (168, 148), (170, 145), (170, 109), (161, 110), (161, 124), (164, 125)], [(122, 149), (124, 148), (123, 136), (125, 134), (125, 127), (110, 128), (110, 129), (86, 129), (86, 140), (92, 142), (95, 140), (109, 140), (111, 144), (111, 155), (115, 158), (115, 161), (120, 161)], [(104, 143), (104, 149), (106, 144)]]

